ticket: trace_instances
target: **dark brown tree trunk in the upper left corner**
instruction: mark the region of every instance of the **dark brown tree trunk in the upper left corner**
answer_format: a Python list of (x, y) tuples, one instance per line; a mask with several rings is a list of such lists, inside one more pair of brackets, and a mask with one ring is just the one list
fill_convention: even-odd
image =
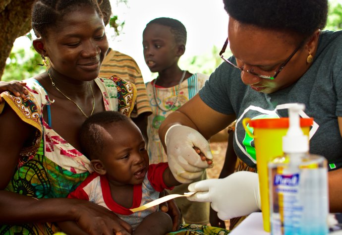
[(31, 6), (33, 1), (0, 1), (0, 80), (15, 39), (31, 30)]

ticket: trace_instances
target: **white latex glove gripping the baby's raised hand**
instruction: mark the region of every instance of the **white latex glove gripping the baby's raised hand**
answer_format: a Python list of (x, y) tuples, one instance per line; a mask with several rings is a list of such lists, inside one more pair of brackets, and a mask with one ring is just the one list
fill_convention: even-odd
[(200, 155), (193, 149), (197, 147), (212, 160), (208, 141), (195, 129), (184, 125), (172, 125), (165, 134), (168, 152), (168, 162), (174, 178), (181, 183), (190, 183), (198, 178), (208, 167), (207, 161), (202, 161)]

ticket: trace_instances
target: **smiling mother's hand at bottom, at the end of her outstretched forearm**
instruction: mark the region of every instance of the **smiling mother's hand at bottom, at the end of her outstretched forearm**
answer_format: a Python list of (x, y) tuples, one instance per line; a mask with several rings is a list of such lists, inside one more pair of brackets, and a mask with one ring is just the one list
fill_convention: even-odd
[(91, 235), (130, 235), (132, 227), (118, 218), (112, 211), (95, 203), (75, 200), (77, 207), (73, 209), (77, 225)]

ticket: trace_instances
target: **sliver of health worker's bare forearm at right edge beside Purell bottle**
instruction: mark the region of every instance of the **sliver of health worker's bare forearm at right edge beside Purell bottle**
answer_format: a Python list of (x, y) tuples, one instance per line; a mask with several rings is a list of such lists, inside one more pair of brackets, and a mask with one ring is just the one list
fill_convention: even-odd
[(329, 179), (329, 206), (330, 212), (342, 212), (342, 187), (341, 179), (342, 179), (342, 168), (330, 171), (328, 173)]

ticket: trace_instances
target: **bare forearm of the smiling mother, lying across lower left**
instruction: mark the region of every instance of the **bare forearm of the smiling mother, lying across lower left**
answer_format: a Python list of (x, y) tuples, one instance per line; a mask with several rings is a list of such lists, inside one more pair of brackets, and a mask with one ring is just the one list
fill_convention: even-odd
[(3, 224), (58, 222), (74, 220), (73, 202), (75, 199), (51, 198), (35, 199), (0, 191), (0, 221)]

